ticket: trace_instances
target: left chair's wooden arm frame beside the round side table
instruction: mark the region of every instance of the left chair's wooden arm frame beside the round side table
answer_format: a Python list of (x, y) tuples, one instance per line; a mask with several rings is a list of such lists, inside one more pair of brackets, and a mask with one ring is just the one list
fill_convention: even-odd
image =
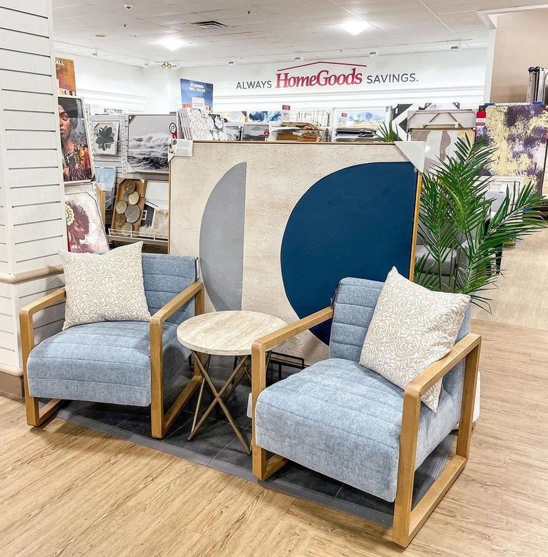
[(163, 323), (185, 303), (194, 301), (195, 315), (204, 313), (204, 283), (195, 281), (177, 294), (150, 318), (150, 419), (152, 436), (161, 439), (171, 427), (184, 405), (200, 384), (201, 376), (195, 372), (188, 385), (164, 414), (164, 347)]

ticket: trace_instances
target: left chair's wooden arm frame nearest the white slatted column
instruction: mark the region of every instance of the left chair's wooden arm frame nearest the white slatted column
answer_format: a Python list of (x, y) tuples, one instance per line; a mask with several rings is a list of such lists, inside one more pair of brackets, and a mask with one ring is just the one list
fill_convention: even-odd
[(19, 327), (21, 331), (21, 356), (23, 366), (23, 384), (25, 386), (25, 408), (27, 411), (27, 423), (30, 426), (44, 424), (51, 415), (59, 408), (60, 400), (53, 399), (40, 409), (38, 399), (30, 396), (29, 380), (27, 377), (27, 360), (34, 348), (34, 322), (32, 316), (41, 310), (55, 306), (67, 296), (65, 288), (59, 288), (23, 306), (19, 310)]

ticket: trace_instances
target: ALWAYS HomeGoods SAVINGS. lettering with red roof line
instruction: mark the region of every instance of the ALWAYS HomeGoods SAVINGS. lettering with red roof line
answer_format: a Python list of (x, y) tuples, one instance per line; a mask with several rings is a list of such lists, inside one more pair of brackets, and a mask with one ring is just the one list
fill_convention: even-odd
[(367, 65), (350, 62), (311, 62), (284, 67), (273, 79), (237, 81), (236, 89), (299, 89), (361, 84), (414, 83), (416, 72), (370, 73)]

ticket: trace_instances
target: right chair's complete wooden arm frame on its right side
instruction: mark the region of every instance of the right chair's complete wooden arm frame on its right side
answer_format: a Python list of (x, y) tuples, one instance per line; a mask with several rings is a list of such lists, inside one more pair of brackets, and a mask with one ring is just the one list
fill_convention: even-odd
[[(450, 353), (441, 360), (426, 367), (405, 387), (400, 433), (400, 457), (398, 464), (398, 486), (394, 506), (392, 537), (396, 544), (406, 547), (449, 490), (459, 473), (466, 466), (472, 431), (476, 381), (481, 350), (481, 336), (467, 334), (453, 346)], [(415, 461), (417, 458), (417, 437), (421, 412), (421, 396), (442, 379), (450, 369), (466, 358), (464, 382), (455, 457), (445, 467), (430, 489), (424, 494), (414, 509), (412, 506)]]

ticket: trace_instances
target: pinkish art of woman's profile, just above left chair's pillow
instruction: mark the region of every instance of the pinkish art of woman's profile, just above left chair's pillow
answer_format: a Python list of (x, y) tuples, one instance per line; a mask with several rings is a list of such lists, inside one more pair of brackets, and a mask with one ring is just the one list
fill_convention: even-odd
[(76, 254), (104, 254), (108, 251), (105, 225), (91, 194), (66, 194), (65, 219), (68, 251)]

